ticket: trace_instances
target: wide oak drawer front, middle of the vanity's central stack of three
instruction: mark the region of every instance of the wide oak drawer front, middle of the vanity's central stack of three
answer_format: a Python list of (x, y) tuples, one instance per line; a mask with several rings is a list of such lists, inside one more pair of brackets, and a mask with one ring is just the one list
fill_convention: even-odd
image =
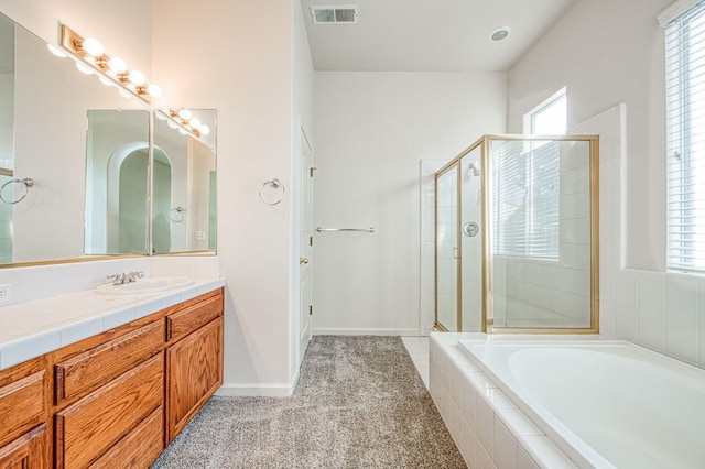
[(56, 413), (56, 466), (86, 467), (159, 407), (162, 353)]

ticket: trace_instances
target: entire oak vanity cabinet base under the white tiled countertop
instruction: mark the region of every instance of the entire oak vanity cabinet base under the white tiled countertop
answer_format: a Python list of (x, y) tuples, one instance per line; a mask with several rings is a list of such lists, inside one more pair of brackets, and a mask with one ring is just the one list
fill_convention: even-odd
[(217, 287), (1, 370), (0, 468), (149, 467), (223, 383), (223, 312)]

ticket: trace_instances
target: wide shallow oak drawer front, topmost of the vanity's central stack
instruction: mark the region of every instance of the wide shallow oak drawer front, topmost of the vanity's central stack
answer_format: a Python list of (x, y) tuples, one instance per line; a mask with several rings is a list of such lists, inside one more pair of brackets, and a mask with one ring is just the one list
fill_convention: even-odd
[(155, 320), (57, 363), (54, 367), (56, 404), (88, 393), (159, 352), (163, 327), (161, 320)]

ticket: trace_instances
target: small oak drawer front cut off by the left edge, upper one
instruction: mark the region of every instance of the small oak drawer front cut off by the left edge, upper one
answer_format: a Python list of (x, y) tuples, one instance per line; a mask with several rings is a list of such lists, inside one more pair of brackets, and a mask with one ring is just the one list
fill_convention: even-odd
[(45, 371), (0, 388), (0, 445), (44, 423)]

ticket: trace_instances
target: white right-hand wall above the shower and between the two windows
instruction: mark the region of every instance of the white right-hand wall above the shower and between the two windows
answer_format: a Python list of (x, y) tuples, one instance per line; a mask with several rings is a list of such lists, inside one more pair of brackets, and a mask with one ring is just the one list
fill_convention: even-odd
[(622, 263), (649, 270), (665, 264), (664, 53), (655, 18), (672, 2), (578, 0), (509, 72), (510, 132), (521, 132), (522, 116), (564, 86), (568, 127), (627, 105)]

